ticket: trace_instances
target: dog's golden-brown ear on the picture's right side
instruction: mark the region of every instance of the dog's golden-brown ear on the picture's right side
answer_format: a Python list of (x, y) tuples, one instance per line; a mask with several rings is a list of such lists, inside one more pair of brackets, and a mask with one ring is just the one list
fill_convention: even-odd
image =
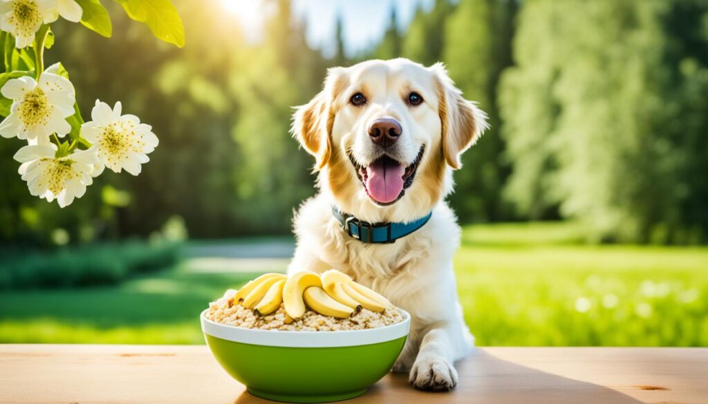
[(447, 164), (457, 170), (462, 167), (459, 156), (489, 128), (486, 113), (477, 108), (476, 103), (462, 98), (462, 91), (455, 87), (442, 63), (436, 63), (430, 69), (435, 73), (438, 93), (442, 153)]

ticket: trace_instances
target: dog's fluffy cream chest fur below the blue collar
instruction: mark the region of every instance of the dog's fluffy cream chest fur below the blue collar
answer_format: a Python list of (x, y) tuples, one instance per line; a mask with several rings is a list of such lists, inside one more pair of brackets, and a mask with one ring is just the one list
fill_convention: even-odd
[[(318, 262), (300, 270), (336, 268), (394, 301), (407, 300), (440, 277), (440, 267), (459, 244), (459, 227), (444, 202), (421, 229), (390, 244), (362, 243), (343, 231), (324, 197), (303, 204), (295, 219), (299, 245), (310, 246)], [(452, 269), (452, 268), (450, 268)]]

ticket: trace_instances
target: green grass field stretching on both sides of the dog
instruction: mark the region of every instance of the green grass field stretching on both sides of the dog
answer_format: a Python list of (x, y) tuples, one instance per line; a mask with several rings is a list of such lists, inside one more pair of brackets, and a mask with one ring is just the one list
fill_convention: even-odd
[[(708, 346), (708, 248), (579, 240), (568, 223), (464, 229), (457, 287), (479, 345)], [(117, 287), (0, 292), (0, 342), (202, 343), (198, 313), (256, 275), (210, 262)]]

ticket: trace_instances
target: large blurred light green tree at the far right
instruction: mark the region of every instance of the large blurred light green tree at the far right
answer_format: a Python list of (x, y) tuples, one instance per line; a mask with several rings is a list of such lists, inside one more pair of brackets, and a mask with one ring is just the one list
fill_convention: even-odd
[(522, 212), (555, 205), (595, 240), (700, 241), (706, 191), (695, 177), (708, 126), (695, 91), (705, 88), (708, 44), (697, 33), (707, 11), (690, 1), (525, 2), (518, 67), (501, 97), (508, 192)]

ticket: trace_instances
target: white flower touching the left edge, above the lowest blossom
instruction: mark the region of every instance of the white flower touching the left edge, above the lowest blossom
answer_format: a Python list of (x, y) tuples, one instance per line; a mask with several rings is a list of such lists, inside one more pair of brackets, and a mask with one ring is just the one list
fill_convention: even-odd
[(30, 76), (8, 80), (0, 89), (13, 100), (10, 115), (0, 123), (0, 136), (36, 139), (49, 144), (52, 133), (63, 137), (72, 127), (66, 118), (74, 115), (74, 86), (55, 74), (54, 65), (40, 75), (39, 83)]

